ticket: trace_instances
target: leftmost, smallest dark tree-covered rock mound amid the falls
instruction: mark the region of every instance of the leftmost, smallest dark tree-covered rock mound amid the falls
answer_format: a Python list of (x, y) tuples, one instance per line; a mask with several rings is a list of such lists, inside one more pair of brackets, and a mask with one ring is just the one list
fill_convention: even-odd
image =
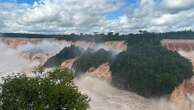
[(65, 47), (61, 52), (57, 55), (49, 58), (47, 62), (44, 64), (44, 67), (59, 67), (65, 60), (72, 59), (78, 57), (82, 54), (82, 49), (70, 46)]

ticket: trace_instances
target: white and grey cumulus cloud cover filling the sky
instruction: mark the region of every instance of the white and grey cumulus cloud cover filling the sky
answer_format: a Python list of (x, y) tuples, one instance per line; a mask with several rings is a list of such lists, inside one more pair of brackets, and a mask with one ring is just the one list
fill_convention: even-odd
[[(40, 0), (0, 3), (0, 32), (93, 33), (194, 28), (194, 0)], [(109, 13), (121, 11), (115, 19)]]

